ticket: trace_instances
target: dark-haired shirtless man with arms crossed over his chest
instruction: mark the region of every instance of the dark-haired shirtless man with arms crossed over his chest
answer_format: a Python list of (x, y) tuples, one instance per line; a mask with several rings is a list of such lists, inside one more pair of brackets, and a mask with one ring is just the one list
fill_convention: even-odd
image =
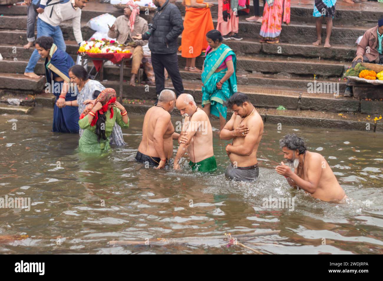
[(244, 93), (234, 93), (226, 105), (234, 113), (219, 134), (221, 139), (233, 139), (226, 145), (231, 165), (225, 175), (237, 181), (253, 181), (259, 175), (257, 150), (263, 134), (262, 118)]

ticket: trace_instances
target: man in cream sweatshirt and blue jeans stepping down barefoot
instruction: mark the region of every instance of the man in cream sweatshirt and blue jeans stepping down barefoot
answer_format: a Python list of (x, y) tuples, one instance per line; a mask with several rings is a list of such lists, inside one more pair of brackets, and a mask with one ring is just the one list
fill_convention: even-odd
[[(37, 38), (41, 36), (52, 37), (54, 44), (63, 52), (66, 50), (64, 37), (60, 24), (62, 21), (72, 20), (73, 33), (76, 42), (82, 42), (81, 34), (81, 9), (85, 7), (88, 0), (41, 0), (37, 9)], [(31, 78), (40, 78), (34, 73), (34, 67), (40, 59), (38, 51), (35, 49), (29, 58), (24, 75)]]

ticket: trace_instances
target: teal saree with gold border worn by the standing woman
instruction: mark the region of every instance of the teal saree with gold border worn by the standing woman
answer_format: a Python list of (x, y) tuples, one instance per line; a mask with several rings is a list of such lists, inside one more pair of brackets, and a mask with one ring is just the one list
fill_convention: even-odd
[[(224, 62), (226, 57), (230, 55), (233, 60), (234, 73), (223, 83), (222, 89), (218, 90), (216, 84), (225, 76), (228, 69), (224, 68), (220, 72), (215, 71)], [(203, 63), (204, 69), (201, 75), (203, 83), (202, 106), (210, 103), (210, 113), (214, 116), (219, 117), (219, 114), (221, 114), (225, 119), (227, 117), (228, 108), (224, 106), (224, 102), (237, 91), (236, 66), (236, 54), (226, 44), (221, 44), (206, 54), (205, 62)]]

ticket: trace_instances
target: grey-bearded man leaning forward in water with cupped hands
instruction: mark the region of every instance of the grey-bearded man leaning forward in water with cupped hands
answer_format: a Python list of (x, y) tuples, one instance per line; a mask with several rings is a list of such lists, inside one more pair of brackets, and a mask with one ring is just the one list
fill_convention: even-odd
[(287, 165), (281, 162), (275, 170), (285, 176), (289, 185), (302, 188), (322, 201), (344, 203), (347, 196), (321, 154), (309, 152), (304, 140), (295, 134), (286, 135), (279, 144)]

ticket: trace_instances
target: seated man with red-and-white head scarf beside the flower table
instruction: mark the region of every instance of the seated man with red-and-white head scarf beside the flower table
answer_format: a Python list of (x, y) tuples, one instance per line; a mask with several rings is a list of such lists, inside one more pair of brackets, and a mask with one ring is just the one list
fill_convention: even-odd
[(133, 1), (126, 3), (124, 15), (116, 18), (115, 23), (109, 28), (108, 36), (116, 38), (120, 44), (129, 44), (129, 49), (133, 52), (132, 71), (130, 85), (136, 85), (136, 75), (140, 69), (144, 51), (142, 46), (147, 44), (147, 40), (135, 40), (133, 35), (143, 34), (148, 30), (147, 21), (140, 16), (140, 8)]

